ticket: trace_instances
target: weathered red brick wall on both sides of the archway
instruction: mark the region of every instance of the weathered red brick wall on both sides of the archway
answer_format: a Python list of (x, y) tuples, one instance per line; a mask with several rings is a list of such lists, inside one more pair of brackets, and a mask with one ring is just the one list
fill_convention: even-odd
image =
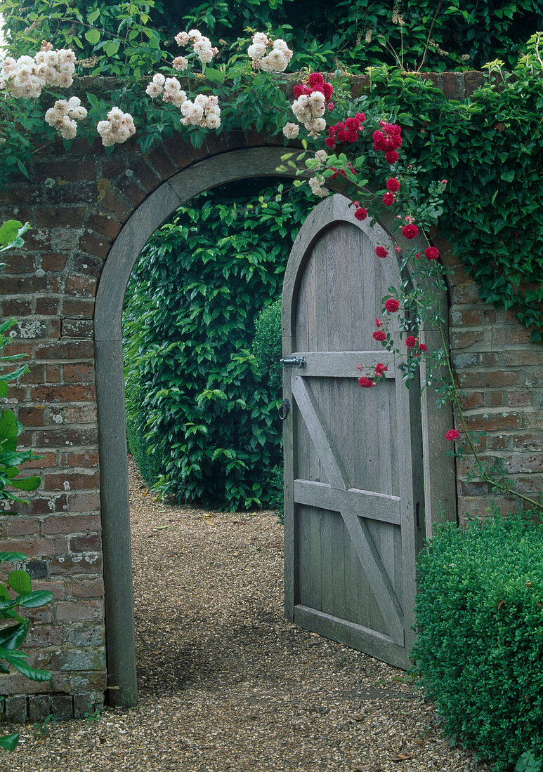
[[(480, 73), (426, 76), (450, 96), (464, 96)], [(83, 84), (85, 85), (85, 84)], [(277, 144), (277, 140), (268, 140)], [(200, 159), (266, 144), (253, 132), (210, 138), (195, 151), (178, 138), (142, 155), (134, 143), (104, 153), (76, 141), (38, 154), (30, 181), (0, 192), (0, 222), (28, 220), (25, 247), (0, 274), (0, 317), (15, 317), (11, 353), (28, 354), (29, 373), (10, 390), (9, 405), (25, 426), (22, 444), (42, 454), (32, 462), (42, 484), (16, 517), (0, 513), (2, 550), (29, 555), (34, 587), (55, 601), (31, 615), (27, 648), (49, 683), (0, 676), (5, 713), (81, 715), (107, 687), (100, 486), (93, 364), (93, 306), (110, 245), (151, 191)], [(445, 259), (453, 262), (446, 245)], [(541, 470), (543, 348), (511, 317), (480, 303), (477, 287), (457, 267), (450, 280), (453, 361), (466, 392), (471, 428), (488, 432), (485, 454), (499, 455), (520, 489), (537, 494)], [(459, 514), (484, 514), (485, 484), (468, 482), (459, 465)], [(91, 708), (93, 709), (93, 708)]]

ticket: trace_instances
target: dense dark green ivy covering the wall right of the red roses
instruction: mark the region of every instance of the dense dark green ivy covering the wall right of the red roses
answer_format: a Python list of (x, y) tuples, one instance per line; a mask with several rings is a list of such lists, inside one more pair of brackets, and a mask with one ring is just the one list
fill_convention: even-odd
[(429, 81), (382, 68), (372, 94), (402, 125), (421, 187), (448, 181), (439, 231), (481, 299), (514, 310), (541, 340), (543, 80), (524, 66), (515, 75), (498, 72), (472, 98), (450, 101)]

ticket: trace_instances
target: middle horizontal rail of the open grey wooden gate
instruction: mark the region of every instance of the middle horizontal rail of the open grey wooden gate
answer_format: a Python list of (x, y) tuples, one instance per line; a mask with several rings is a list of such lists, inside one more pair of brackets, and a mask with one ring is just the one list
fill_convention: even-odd
[(308, 506), (324, 506), (327, 510), (348, 512), (371, 520), (400, 524), (398, 496), (373, 493), (368, 490), (333, 488), (327, 482), (294, 480), (294, 501)]

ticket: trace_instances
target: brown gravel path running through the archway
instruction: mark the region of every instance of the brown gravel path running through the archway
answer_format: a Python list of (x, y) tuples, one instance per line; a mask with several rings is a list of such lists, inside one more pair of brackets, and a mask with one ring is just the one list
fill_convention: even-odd
[(17, 726), (2, 772), (490, 768), (443, 740), (401, 671), (283, 619), (275, 514), (208, 513), (146, 494), (132, 468), (137, 707), (46, 736)]

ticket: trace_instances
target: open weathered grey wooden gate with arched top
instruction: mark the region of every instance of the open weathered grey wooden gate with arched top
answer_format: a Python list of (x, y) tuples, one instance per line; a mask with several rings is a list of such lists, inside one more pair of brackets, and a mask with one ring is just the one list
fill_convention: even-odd
[[(285, 608), (304, 628), (408, 668), (423, 537), (419, 389), (408, 390), (375, 317), (398, 286), (381, 227), (334, 195), (307, 218), (283, 288)], [(383, 362), (386, 380), (358, 386)]]

